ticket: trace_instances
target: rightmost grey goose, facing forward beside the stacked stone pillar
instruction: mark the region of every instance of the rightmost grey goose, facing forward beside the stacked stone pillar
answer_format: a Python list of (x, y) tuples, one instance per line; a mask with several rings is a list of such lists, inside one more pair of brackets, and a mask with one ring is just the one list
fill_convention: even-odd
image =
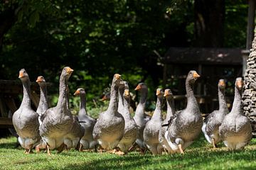
[(238, 77), (232, 110), (225, 115), (219, 128), (220, 139), (229, 149), (242, 149), (252, 138), (250, 120), (242, 113), (242, 87), (242, 78)]

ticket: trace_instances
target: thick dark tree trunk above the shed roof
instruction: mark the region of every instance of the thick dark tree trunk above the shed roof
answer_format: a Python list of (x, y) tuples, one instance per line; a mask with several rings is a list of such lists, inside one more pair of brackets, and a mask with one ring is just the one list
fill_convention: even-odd
[(196, 47), (223, 47), (224, 0), (195, 0)]

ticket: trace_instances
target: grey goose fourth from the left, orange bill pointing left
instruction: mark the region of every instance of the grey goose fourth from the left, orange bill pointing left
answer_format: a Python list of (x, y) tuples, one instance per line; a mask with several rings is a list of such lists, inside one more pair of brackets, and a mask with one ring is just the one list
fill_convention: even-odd
[(82, 151), (82, 149), (92, 149), (97, 145), (97, 140), (93, 140), (92, 136), (92, 130), (95, 126), (96, 120), (87, 114), (85, 89), (78, 88), (74, 95), (80, 96), (78, 120), (80, 125), (82, 125), (82, 127), (85, 129), (82, 139), (80, 140), (79, 151)]

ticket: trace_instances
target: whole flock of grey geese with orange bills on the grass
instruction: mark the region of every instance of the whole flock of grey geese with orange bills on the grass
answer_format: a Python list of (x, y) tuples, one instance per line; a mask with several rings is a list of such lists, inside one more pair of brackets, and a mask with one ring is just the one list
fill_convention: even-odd
[[(40, 76), (36, 79), (40, 87), (40, 101), (36, 111), (31, 108), (31, 89), (28, 73), (21, 69), (18, 78), (23, 84), (21, 106), (13, 115), (14, 128), (18, 142), (26, 154), (33, 148), (36, 152), (56, 149), (58, 152), (71, 148), (78, 151), (95, 149), (100, 152), (127, 154), (137, 145), (142, 154), (146, 149), (156, 155), (167, 152), (181, 153), (196, 140), (201, 131), (206, 140), (217, 147), (221, 141), (229, 149), (242, 149), (252, 137), (249, 119), (243, 115), (242, 78), (235, 81), (235, 98), (229, 112), (225, 101), (225, 81), (218, 81), (219, 109), (208, 114), (203, 120), (193, 93), (193, 86), (200, 77), (191, 70), (186, 77), (187, 106), (182, 111), (175, 111), (174, 95), (171, 89), (156, 89), (156, 108), (150, 118), (144, 113), (148, 88), (140, 83), (140, 100), (135, 115), (132, 117), (130, 92), (127, 81), (120, 74), (114, 74), (110, 90), (110, 103), (99, 118), (91, 118), (86, 110), (85, 89), (78, 88), (75, 96), (80, 96), (78, 115), (72, 115), (68, 105), (68, 79), (73, 73), (70, 67), (64, 67), (60, 75), (59, 97), (57, 106), (48, 108), (46, 80)], [(166, 118), (162, 118), (162, 106), (166, 100)]]

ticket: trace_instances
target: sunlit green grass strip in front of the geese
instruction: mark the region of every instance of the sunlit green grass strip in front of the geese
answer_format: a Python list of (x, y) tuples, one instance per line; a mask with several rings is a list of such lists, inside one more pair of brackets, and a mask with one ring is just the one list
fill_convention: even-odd
[(70, 150), (51, 156), (24, 154), (15, 148), (16, 138), (0, 139), (0, 169), (256, 169), (256, 139), (240, 151), (228, 151), (223, 145), (211, 149), (203, 136), (184, 155), (152, 156), (131, 152), (119, 157), (108, 153)]

